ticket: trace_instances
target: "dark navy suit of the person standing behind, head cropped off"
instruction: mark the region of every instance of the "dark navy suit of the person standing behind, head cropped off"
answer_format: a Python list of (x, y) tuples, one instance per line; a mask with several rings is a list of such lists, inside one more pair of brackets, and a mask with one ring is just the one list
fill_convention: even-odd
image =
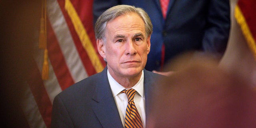
[(94, 0), (94, 22), (107, 8), (128, 4), (143, 8), (153, 24), (147, 70), (159, 70), (162, 44), (164, 61), (188, 51), (216, 53), (226, 49), (230, 30), (229, 0), (170, 0), (164, 20), (159, 0)]

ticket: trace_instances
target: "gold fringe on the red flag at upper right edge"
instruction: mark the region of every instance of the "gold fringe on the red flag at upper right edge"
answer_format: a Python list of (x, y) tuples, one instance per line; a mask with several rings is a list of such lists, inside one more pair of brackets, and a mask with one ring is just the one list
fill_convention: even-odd
[(242, 33), (244, 34), (244, 37), (246, 39), (246, 42), (249, 46), (249, 48), (252, 50), (254, 59), (256, 59), (256, 44), (255, 40), (252, 36), (252, 33), (250, 31), (250, 28), (246, 22), (246, 19), (244, 18), (244, 15), (242, 14), (242, 11), (240, 10), (239, 6), (236, 5), (234, 16), (236, 18), (236, 21), (241, 27)]

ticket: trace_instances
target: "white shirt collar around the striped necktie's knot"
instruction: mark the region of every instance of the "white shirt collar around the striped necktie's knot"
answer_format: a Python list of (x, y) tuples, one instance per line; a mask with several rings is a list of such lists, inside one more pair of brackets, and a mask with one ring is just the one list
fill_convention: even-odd
[[(109, 71), (108, 72), (108, 81), (110, 84), (110, 88), (112, 90), (112, 94), (115, 97), (116, 95), (118, 95), (122, 90), (126, 89), (124, 88), (122, 85), (120, 85), (118, 82), (116, 82), (116, 80), (114, 80), (114, 78), (110, 75)], [(142, 98), (144, 97), (144, 71), (142, 70), (142, 74), (140, 76), (140, 80), (132, 87), (134, 90), (136, 90), (138, 92), (138, 94), (140, 94), (140, 96), (142, 96)], [(127, 88), (130, 89), (130, 88)]]

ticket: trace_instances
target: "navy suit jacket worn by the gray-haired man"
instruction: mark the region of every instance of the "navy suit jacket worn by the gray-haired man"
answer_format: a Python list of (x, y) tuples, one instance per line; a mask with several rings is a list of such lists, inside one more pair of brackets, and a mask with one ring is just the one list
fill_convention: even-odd
[[(146, 115), (156, 78), (144, 70)], [(147, 116), (146, 116), (147, 117)], [(147, 119), (146, 119), (147, 120)], [(54, 98), (52, 128), (122, 128), (107, 77), (107, 68), (62, 91)]]

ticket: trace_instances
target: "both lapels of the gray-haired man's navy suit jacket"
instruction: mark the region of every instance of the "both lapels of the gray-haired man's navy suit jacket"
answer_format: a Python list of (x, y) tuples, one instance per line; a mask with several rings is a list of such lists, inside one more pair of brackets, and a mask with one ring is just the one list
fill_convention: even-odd
[[(92, 98), (92, 110), (97, 116), (103, 128), (122, 128), (122, 121), (118, 113), (116, 102), (114, 100), (110, 84), (107, 77), (107, 68), (101, 73), (96, 80), (94, 96)], [(152, 99), (154, 76), (147, 70), (144, 70), (144, 92), (146, 105), (146, 122), (147, 115), (150, 112), (150, 99)], [(147, 124), (147, 123), (146, 123)]]

